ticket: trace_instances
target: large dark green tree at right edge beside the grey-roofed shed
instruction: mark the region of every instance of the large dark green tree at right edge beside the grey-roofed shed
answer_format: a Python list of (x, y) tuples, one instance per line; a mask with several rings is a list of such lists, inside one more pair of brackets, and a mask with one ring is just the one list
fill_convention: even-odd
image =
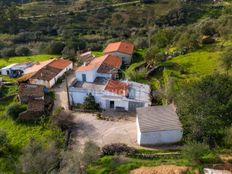
[(176, 97), (185, 138), (221, 144), (232, 124), (232, 78), (214, 74), (186, 85)]

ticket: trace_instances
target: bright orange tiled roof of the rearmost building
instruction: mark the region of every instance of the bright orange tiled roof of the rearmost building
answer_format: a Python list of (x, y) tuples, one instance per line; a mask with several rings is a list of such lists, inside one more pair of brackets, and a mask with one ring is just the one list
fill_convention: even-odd
[(132, 55), (134, 52), (134, 45), (129, 42), (114, 42), (107, 45), (104, 53), (122, 52)]

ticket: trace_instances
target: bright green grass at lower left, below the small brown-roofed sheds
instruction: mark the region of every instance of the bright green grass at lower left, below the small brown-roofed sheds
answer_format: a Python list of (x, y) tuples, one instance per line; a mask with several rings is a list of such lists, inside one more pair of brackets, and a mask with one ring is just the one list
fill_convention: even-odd
[(0, 104), (0, 128), (7, 133), (9, 143), (13, 151), (7, 156), (0, 157), (0, 171), (3, 173), (15, 173), (15, 164), (21, 154), (22, 148), (34, 138), (48, 144), (51, 140), (63, 141), (63, 133), (53, 129), (48, 122), (36, 124), (17, 123), (5, 115), (6, 108), (13, 102), (9, 100)]

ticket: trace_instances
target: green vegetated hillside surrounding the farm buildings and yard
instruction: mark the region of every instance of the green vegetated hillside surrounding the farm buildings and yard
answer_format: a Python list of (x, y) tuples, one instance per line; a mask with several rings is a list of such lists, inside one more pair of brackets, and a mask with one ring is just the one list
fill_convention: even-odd
[[(76, 68), (77, 54), (92, 51), (98, 57), (108, 43), (129, 41), (135, 52), (132, 63), (121, 68), (122, 79), (150, 85), (153, 105), (175, 103), (184, 131), (183, 140), (170, 147), (142, 147), (135, 154), (127, 153), (131, 150), (127, 147), (119, 154), (98, 156), (99, 148), (90, 143), (89, 149), (81, 152), (77, 147), (74, 153), (76, 147), (66, 146), (67, 137), (75, 136), (69, 131), (82, 123), (73, 128), (71, 113), (59, 118), (62, 112), (57, 109), (37, 122), (21, 123), (9, 117), (9, 110), (20, 110), (9, 109), (17, 104), (17, 97), (0, 100), (0, 141), (4, 145), (0, 146), (0, 173), (17, 173), (21, 163), (28, 173), (41, 173), (40, 169), (43, 173), (129, 173), (159, 165), (187, 166), (192, 173), (224, 163), (221, 154), (231, 156), (231, 0), (0, 3), (0, 68), (60, 56), (73, 61)], [(1, 97), (18, 94), (17, 79), (0, 78), (13, 82), (0, 88)], [(61, 86), (57, 88), (66, 96)], [(53, 90), (49, 95), (55, 100)], [(101, 111), (95, 115), (103, 121)], [(27, 161), (33, 162), (31, 168)], [(230, 160), (225, 163), (231, 165)]]

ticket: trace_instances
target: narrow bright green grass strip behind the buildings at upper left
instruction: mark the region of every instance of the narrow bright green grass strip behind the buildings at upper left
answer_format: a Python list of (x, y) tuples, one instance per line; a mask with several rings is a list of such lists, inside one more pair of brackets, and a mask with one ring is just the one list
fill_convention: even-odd
[(58, 55), (40, 54), (33, 56), (18, 56), (9, 58), (0, 58), (0, 67), (10, 65), (12, 63), (24, 63), (24, 62), (40, 62), (51, 58), (56, 58)]

